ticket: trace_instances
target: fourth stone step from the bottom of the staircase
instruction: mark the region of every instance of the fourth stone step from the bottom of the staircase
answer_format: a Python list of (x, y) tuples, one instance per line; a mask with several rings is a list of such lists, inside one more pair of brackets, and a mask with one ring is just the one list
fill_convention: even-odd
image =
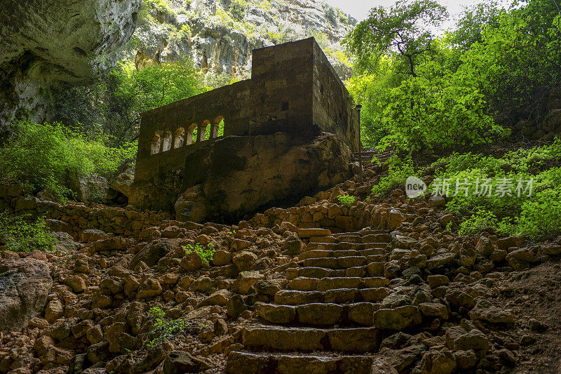
[(386, 287), (377, 288), (337, 288), (326, 291), (280, 290), (274, 296), (278, 305), (302, 305), (313, 302), (332, 302), (346, 304), (349, 302), (379, 302), (390, 294)]

